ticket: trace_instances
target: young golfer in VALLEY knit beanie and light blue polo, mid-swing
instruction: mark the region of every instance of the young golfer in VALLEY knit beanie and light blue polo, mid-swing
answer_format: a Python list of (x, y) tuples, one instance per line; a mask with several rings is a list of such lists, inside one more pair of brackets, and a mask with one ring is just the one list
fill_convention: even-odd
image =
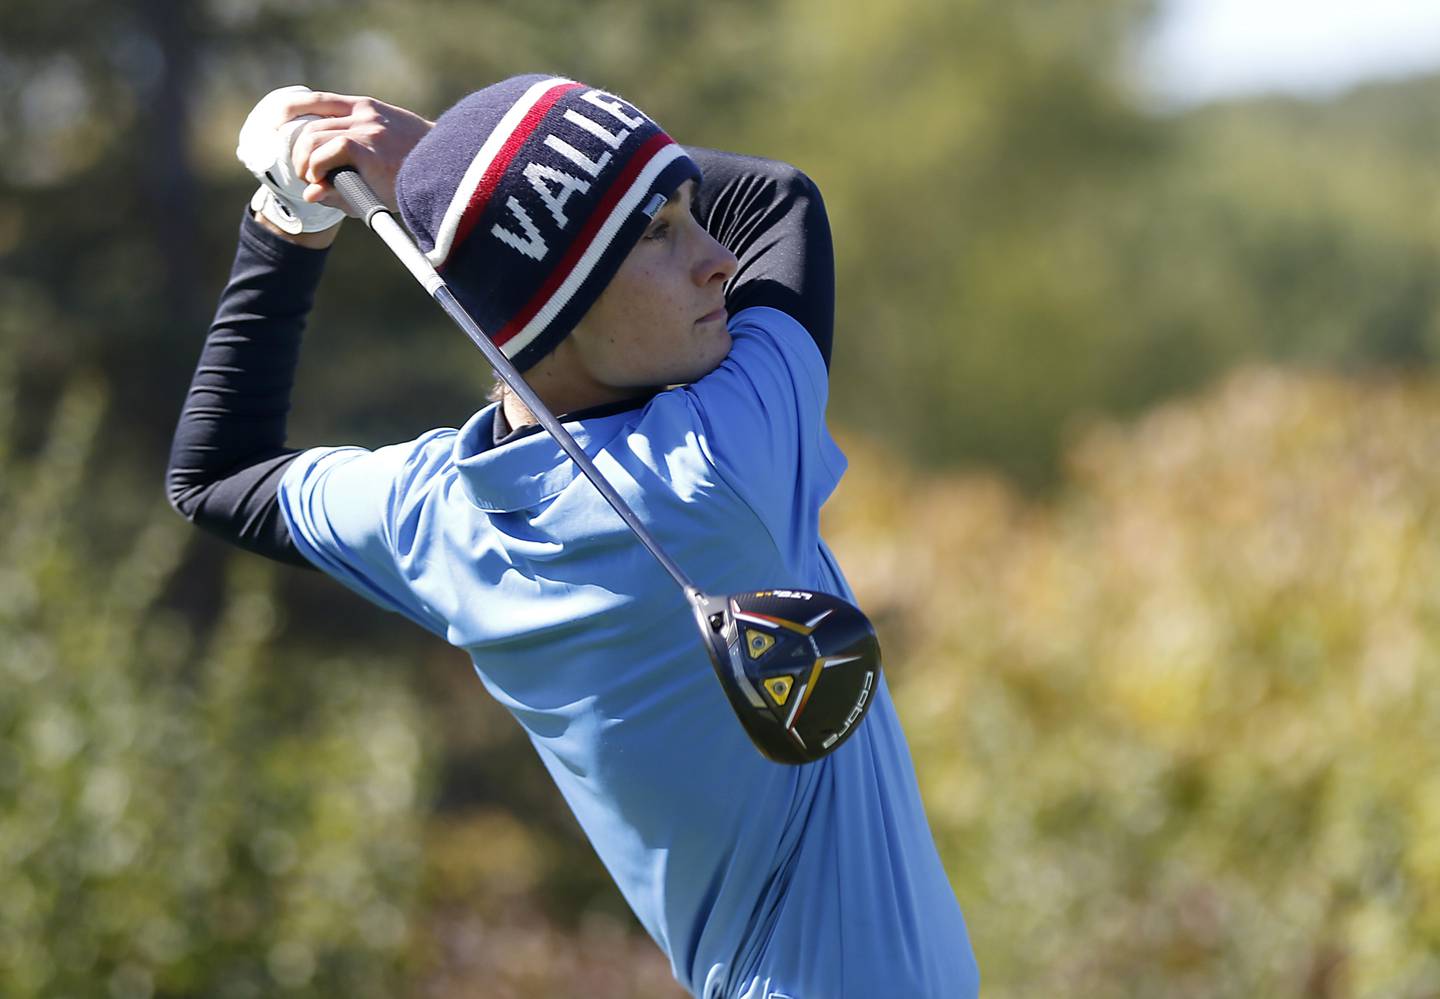
[(824, 419), (834, 274), (814, 184), (681, 148), (634, 105), (544, 76), (433, 127), (363, 98), (266, 101), (242, 158), (264, 176), (265, 150), (288, 155), (242, 222), (171, 502), (465, 649), (691, 993), (973, 995), (884, 684), (831, 756), (765, 760), (678, 589), (510, 393), (373, 452), (285, 446), (338, 222), (323, 177), (353, 164), (701, 587), (852, 600), (818, 530), (844, 456)]

